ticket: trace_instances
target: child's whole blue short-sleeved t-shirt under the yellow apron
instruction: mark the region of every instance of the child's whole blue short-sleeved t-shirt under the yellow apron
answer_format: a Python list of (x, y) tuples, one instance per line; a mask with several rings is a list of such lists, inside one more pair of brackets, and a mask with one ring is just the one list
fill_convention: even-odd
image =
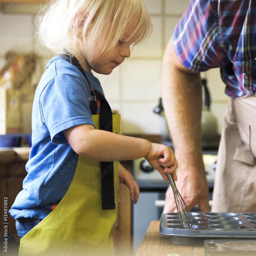
[[(85, 71), (91, 88), (102, 91), (97, 78)], [(65, 196), (78, 161), (63, 130), (94, 126), (90, 88), (82, 73), (59, 56), (47, 63), (32, 108), (32, 147), (23, 190), (9, 210), (14, 218), (45, 218)], [(84, 170), (87, 171), (87, 170)]]

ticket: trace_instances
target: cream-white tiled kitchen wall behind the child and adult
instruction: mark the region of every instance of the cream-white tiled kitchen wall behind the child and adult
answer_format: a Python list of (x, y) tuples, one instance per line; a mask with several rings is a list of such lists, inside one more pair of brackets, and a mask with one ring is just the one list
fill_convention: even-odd
[[(164, 49), (180, 16), (189, 0), (143, 0), (150, 12), (154, 26), (153, 34), (146, 45), (135, 46), (131, 57), (112, 74), (104, 76), (95, 73), (104, 88), (112, 109), (122, 115), (121, 131), (129, 134), (161, 134), (153, 112), (161, 97), (160, 76)], [(42, 72), (51, 55), (41, 48), (32, 30), (34, 14), (0, 13), (0, 68), (4, 65), (4, 55), (8, 50), (26, 54), (34, 52), (42, 64)], [(216, 108), (218, 132), (221, 131), (222, 114), (228, 101), (225, 85), (219, 70), (204, 73)], [(155, 121), (157, 122), (157, 121)]]

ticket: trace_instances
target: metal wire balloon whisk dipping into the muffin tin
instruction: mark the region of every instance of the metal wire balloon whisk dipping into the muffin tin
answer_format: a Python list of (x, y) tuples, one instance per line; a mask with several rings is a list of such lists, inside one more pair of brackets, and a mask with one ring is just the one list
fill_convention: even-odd
[(180, 225), (182, 226), (182, 228), (191, 229), (195, 224), (193, 215), (191, 214), (191, 211), (188, 209), (188, 206), (186, 205), (184, 199), (180, 195), (176, 187), (175, 181), (173, 180), (173, 175), (167, 173), (167, 176), (168, 176), (170, 185), (173, 189), (173, 196), (174, 196), (174, 200), (177, 208)]

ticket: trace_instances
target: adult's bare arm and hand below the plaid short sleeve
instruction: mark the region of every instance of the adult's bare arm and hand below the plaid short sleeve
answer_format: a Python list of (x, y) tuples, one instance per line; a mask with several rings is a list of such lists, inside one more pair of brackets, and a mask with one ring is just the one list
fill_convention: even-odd
[[(179, 163), (177, 188), (188, 207), (196, 205), (210, 211), (208, 184), (201, 148), (201, 80), (200, 74), (185, 68), (170, 39), (163, 58), (162, 99), (175, 156)], [(172, 189), (167, 189), (163, 212), (176, 211)]]

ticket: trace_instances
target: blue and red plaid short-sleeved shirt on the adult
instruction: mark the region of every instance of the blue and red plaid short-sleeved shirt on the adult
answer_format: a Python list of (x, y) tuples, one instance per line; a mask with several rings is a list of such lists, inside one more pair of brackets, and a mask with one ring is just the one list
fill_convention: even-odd
[(173, 42), (186, 68), (202, 72), (219, 67), (230, 97), (255, 95), (255, 0), (191, 0)]

